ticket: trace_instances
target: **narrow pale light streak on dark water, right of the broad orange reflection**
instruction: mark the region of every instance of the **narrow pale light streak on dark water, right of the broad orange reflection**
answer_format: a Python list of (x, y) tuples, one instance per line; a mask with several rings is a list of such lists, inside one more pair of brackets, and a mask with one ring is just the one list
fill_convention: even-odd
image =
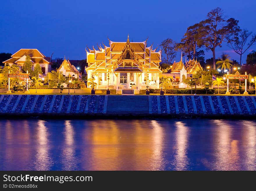
[(183, 122), (175, 122), (176, 132), (175, 132), (175, 170), (186, 170), (189, 162), (187, 156), (187, 146), (188, 146), (188, 127)]

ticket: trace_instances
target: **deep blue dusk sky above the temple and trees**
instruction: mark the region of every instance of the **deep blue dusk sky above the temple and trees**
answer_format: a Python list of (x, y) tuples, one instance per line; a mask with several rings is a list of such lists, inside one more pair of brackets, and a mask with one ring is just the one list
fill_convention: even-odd
[[(53, 58), (64, 55), (72, 59), (85, 59), (85, 47), (102, 41), (144, 41), (154, 47), (166, 38), (180, 41), (188, 26), (206, 18), (207, 13), (221, 7), (225, 16), (239, 20), (241, 28), (256, 33), (255, 0), (211, 1), (1, 1), (0, 6), (0, 52), (15, 53), (20, 48), (37, 48)], [(251, 47), (256, 50), (256, 46)], [(232, 59), (225, 43), (217, 49), (216, 57), (222, 52)], [(245, 62), (247, 51), (242, 60)], [(176, 61), (180, 59), (177, 53)], [(211, 51), (205, 58), (212, 57)]]

